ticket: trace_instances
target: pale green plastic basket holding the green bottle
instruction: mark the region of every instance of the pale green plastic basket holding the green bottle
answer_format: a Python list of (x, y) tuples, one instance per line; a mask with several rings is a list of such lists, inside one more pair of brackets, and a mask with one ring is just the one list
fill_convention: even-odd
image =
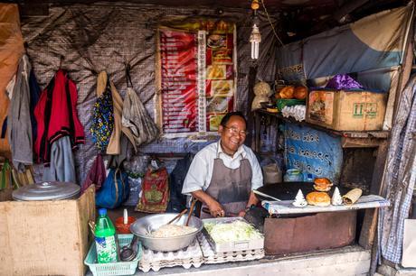
[[(133, 239), (132, 234), (118, 235), (118, 244), (121, 248), (124, 245), (131, 243)], [(106, 275), (133, 275), (136, 272), (138, 261), (142, 256), (142, 244), (137, 244), (137, 256), (130, 262), (109, 262), (98, 263), (97, 262), (97, 250), (95, 243), (92, 243), (90, 250), (85, 257), (84, 263), (90, 267), (90, 271), (94, 276), (106, 276)]]

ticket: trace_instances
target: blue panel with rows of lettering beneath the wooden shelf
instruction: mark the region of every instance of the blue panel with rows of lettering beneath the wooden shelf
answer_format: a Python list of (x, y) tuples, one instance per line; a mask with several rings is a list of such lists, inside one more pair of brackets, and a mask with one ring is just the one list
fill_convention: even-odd
[(298, 124), (285, 124), (287, 169), (299, 169), (304, 179), (327, 178), (338, 184), (343, 161), (341, 138)]

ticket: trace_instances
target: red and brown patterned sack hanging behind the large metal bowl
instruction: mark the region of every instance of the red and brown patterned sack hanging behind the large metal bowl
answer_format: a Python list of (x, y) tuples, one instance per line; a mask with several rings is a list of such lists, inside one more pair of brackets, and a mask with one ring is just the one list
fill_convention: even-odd
[(169, 200), (168, 178), (165, 167), (158, 170), (149, 167), (142, 183), (142, 196), (135, 210), (147, 213), (165, 212)]

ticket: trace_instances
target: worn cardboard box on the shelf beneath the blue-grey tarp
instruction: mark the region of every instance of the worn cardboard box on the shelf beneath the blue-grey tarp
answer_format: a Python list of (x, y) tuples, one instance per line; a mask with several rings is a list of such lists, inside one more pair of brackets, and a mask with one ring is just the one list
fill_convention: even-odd
[(338, 131), (382, 130), (386, 100), (385, 93), (312, 90), (306, 121)]

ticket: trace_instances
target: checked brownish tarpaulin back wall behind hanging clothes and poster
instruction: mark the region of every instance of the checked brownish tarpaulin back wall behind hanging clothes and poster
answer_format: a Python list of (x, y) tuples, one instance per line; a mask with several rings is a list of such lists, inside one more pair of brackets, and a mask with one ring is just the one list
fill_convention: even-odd
[[(121, 96), (127, 84), (125, 62), (131, 66), (134, 89), (155, 115), (156, 29), (169, 21), (186, 21), (195, 16), (223, 18), (237, 26), (237, 91), (235, 109), (248, 110), (248, 73), (258, 66), (257, 78), (273, 81), (276, 73), (276, 45), (266, 19), (260, 13), (260, 59), (252, 63), (249, 40), (251, 11), (225, 10), (219, 16), (213, 9), (166, 8), (151, 5), (100, 3), (94, 5), (52, 6), (49, 16), (25, 17), (22, 32), (27, 52), (41, 87), (45, 87), (60, 67), (69, 71), (78, 88), (78, 113), (86, 133), (86, 143), (75, 152), (78, 181), (82, 181), (97, 154), (91, 142), (91, 110), (95, 102), (96, 73), (107, 70)], [(140, 152), (196, 152), (206, 143), (188, 138), (163, 139)], [(41, 170), (38, 168), (38, 172)]]

